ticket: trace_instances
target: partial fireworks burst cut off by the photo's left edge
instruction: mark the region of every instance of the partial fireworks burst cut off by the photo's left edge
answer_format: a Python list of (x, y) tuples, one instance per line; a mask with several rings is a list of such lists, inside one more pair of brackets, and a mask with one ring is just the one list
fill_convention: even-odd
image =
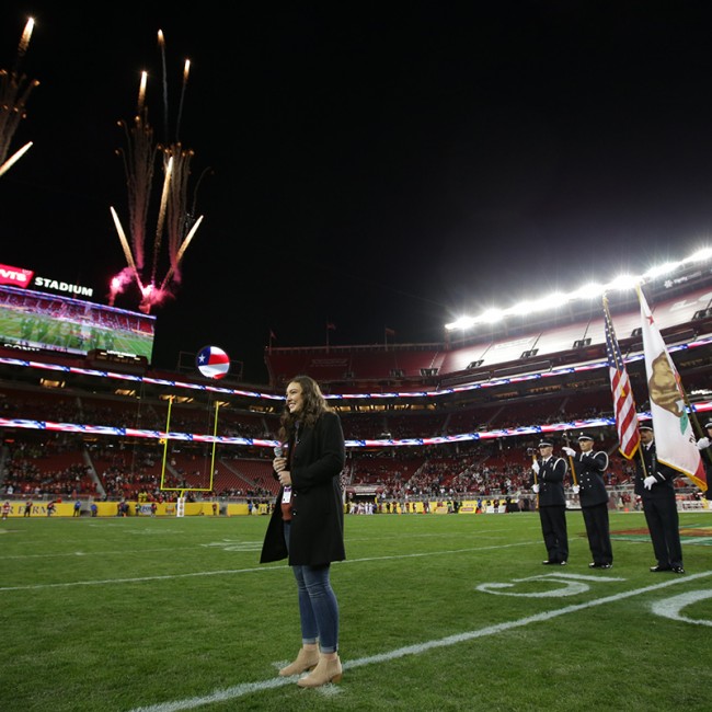
[(0, 69), (0, 175), (20, 160), (32, 146), (30, 141), (8, 158), (12, 137), (20, 122), (26, 116), (25, 105), (30, 92), (39, 83), (36, 79), (27, 79), (25, 74), (20, 73), (20, 65), (27, 51), (34, 26), (35, 21), (30, 18), (20, 38), (13, 69), (11, 71)]

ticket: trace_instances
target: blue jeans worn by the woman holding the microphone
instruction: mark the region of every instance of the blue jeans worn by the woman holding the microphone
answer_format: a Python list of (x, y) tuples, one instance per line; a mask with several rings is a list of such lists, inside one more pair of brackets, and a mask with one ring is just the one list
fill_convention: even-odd
[[(285, 541), (289, 550), (291, 524), (284, 522)], [(331, 587), (331, 564), (321, 566), (292, 566), (299, 594), (301, 642), (309, 645), (319, 642), (322, 653), (338, 650), (338, 602)]]

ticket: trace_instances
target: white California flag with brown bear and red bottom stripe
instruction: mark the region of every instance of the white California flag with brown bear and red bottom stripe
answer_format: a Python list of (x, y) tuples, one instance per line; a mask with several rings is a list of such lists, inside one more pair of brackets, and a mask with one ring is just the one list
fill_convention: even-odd
[(687, 412), (680, 376), (670, 358), (640, 287), (643, 352), (655, 432), (655, 452), (663, 464), (687, 475), (703, 492), (707, 475)]

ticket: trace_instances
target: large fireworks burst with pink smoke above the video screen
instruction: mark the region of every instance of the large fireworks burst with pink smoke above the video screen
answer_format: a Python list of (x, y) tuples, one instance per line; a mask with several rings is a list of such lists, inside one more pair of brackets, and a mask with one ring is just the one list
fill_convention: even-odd
[[(141, 294), (139, 309), (145, 313), (149, 313), (153, 307), (159, 306), (168, 298), (174, 296), (173, 289), (180, 285), (182, 279), (181, 263), (183, 256), (203, 221), (203, 216), (195, 219), (194, 209), (188, 210), (187, 208), (188, 179), (191, 176), (191, 160), (193, 159), (194, 152), (184, 149), (179, 140), (183, 99), (191, 62), (186, 60), (183, 70), (183, 85), (175, 139), (171, 142), (168, 138), (165, 42), (163, 33), (160, 30), (158, 32), (158, 43), (163, 65), (163, 110), (165, 114), (164, 130), (166, 142), (156, 143), (153, 140), (153, 128), (149, 123), (148, 107), (146, 106), (146, 88), (148, 82), (148, 74), (146, 72), (141, 73), (137, 112), (133, 125), (129, 128), (124, 122), (119, 122), (119, 126), (124, 128), (127, 143), (127, 149), (118, 150), (117, 153), (124, 159), (124, 170), (126, 173), (131, 236), (130, 244), (116, 211), (113, 207), (111, 208), (127, 266), (114, 276), (111, 282), (110, 303), (113, 305), (116, 295), (123, 292), (129, 284), (135, 283)], [(156, 234), (153, 237), (152, 249), (150, 249), (147, 245), (147, 221), (151, 187), (153, 184), (153, 169), (159, 156), (162, 158), (163, 187), (161, 191)], [(203, 175), (205, 175), (205, 171)], [(196, 192), (203, 175), (200, 175), (197, 182)], [(165, 275), (159, 278), (158, 273), (161, 268), (161, 248), (164, 236), (168, 236), (168, 268)], [(147, 255), (147, 252), (150, 252), (150, 254)]]

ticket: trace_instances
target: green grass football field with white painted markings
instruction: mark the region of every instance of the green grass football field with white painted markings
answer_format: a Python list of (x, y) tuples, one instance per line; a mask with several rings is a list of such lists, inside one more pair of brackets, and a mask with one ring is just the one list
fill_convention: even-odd
[(648, 572), (641, 513), (592, 572), (567, 516), (555, 571), (536, 513), (347, 516), (344, 679), (318, 690), (276, 675), (300, 633), (266, 517), (2, 521), (0, 709), (709, 710), (712, 512), (681, 515), (685, 576)]

